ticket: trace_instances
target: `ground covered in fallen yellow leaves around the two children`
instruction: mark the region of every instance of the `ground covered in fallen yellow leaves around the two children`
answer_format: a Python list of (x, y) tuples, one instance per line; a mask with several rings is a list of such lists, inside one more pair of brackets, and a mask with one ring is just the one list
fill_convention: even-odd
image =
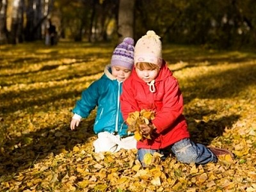
[(175, 157), (141, 168), (136, 150), (95, 154), (95, 111), (70, 131), (81, 91), (114, 45), (60, 42), (0, 47), (1, 191), (256, 191), (256, 54), (164, 46), (196, 142), (235, 159), (196, 166)]

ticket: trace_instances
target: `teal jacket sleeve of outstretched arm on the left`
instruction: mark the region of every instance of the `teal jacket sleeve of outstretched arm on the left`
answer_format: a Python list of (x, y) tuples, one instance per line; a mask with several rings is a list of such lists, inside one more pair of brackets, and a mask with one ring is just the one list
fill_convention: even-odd
[(93, 82), (86, 90), (82, 92), (81, 99), (77, 100), (73, 113), (86, 118), (90, 115), (92, 109), (97, 106), (99, 99), (99, 81)]

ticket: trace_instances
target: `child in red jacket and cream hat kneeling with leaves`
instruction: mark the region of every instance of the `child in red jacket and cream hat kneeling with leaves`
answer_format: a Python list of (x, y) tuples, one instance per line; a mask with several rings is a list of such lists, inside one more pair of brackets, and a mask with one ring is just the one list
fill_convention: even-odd
[(148, 125), (140, 125), (143, 134), (151, 139), (138, 141), (138, 159), (143, 165), (145, 154), (172, 150), (182, 163), (205, 164), (216, 162), (215, 151), (189, 139), (183, 111), (183, 98), (177, 79), (162, 59), (159, 36), (148, 31), (134, 48), (134, 68), (123, 84), (120, 97), (124, 119), (129, 113), (142, 109), (156, 116)]

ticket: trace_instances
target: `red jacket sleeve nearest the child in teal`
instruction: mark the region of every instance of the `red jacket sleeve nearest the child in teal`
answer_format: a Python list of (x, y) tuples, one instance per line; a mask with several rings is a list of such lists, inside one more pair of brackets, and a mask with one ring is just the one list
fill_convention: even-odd
[(124, 81), (122, 89), (123, 91), (120, 96), (120, 106), (123, 118), (126, 120), (129, 116), (129, 113), (140, 111), (140, 108), (138, 108), (138, 104), (134, 99), (134, 89), (131, 87), (131, 81)]

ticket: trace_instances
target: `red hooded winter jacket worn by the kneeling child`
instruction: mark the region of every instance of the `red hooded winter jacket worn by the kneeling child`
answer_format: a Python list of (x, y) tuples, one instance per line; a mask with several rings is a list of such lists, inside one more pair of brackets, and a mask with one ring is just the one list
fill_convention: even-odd
[(148, 84), (137, 76), (135, 68), (123, 84), (120, 101), (125, 120), (129, 113), (141, 109), (156, 112), (156, 118), (152, 120), (156, 126), (156, 131), (151, 136), (152, 140), (138, 141), (137, 148), (165, 148), (189, 138), (186, 120), (182, 115), (183, 98), (179, 84), (165, 62), (155, 79), (155, 88), (156, 92), (150, 92)]

